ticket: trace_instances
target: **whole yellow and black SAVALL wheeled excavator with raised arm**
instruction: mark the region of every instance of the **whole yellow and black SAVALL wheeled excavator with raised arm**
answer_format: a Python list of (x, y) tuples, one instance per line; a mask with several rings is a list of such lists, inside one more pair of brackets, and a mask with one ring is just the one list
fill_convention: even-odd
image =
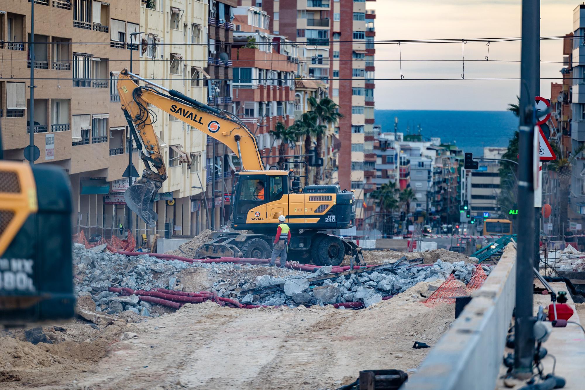
[[(144, 85), (139, 86), (139, 81)], [(338, 265), (348, 254), (363, 263), (355, 242), (327, 234), (355, 226), (356, 204), (352, 191), (342, 191), (336, 184), (301, 189), (299, 177), (292, 170), (267, 170), (256, 138), (228, 111), (168, 90), (126, 69), (120, 73), (118, 91), (122, 111), (145, 166), (142, 177), (126, 190), (126, 204), (146, 224), (156, 224), (154, 197), (167, 179), (150, 105), (224, 143), (240, 158), (242, 169), (236, 172), (232, 189), (230, 228), (233, 231), (215, 233), (211, 242), (199, 248), (198, 257), (269, 258), (280, 223), (278, 217), (284, 215), (292, 234), (288, 247), (290, 259)]]

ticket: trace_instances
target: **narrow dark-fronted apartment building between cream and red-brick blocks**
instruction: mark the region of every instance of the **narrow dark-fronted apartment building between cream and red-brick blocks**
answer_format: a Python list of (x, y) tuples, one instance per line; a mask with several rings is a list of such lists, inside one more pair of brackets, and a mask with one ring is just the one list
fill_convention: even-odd
[[(233, 67), (232, 44), (235, 26), (234, 9), (238, 0), (213, 0), (209, 2), (209, 50), (205, 71), (211, 79), (207, 81), (207, 104), (233, 111)], [(207, 168), (208, 183), (205, 196), (201, 202), (207, 205), (212, 216), (208, 227), (219, 228), (229, 219), (230, 193), (232, 191), (233, 158), (235, 155), (223, 143), (207, 137)], [(231, 164), (230, 164), (231, 163)]]

